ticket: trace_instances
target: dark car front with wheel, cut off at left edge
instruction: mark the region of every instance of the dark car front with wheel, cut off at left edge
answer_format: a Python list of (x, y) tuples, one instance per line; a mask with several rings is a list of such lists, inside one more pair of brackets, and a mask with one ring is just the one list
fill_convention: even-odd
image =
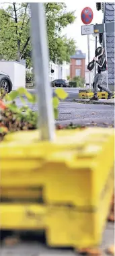
[(0, 88), (3, 88), (6, 92), (11, 92), (12, 90), (12, 82), (6, 73), (0, 71)]

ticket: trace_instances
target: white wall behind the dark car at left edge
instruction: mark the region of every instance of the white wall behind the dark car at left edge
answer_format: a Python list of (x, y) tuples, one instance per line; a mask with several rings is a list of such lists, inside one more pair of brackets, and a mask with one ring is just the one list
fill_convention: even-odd
[(26, 87), (26, 65), (17, 61), (0, 61), (0, 71), (9, 75), (13, 90)]

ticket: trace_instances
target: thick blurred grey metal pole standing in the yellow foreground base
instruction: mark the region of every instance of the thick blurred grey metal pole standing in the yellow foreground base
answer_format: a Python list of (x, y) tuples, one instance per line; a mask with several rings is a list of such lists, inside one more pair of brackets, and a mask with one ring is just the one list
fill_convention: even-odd
[(43, 3), (30, 3), (32, 12), (32, 53), (36, 92), (38, 95), (38, 125), (40, 139), (54, 139), (52, 90), (48, 73), (48, 41)]

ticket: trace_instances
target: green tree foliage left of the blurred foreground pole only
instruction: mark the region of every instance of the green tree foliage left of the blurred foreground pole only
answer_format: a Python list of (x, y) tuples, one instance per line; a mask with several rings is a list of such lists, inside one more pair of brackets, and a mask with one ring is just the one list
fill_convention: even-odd
[[(3, 3), (4, 5), (4, 3)], [(0, 55), (3, 59), (19, 60), (30, 45), (26, 44), (30, 36), (30, 11), (28, 3), (22, 6), (22, 3), (14, 3), (9, 7), (0, 9)], [(15, 12), (16, 11), (16, 12)], [(17, 16), (17, 22), (14, 17)]]

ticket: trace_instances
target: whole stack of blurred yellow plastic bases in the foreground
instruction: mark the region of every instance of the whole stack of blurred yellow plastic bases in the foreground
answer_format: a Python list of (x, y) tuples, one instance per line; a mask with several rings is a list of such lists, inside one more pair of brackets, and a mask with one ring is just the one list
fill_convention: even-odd
[(114, 129), (38, 131), (0, 144), (1, 229), (46, 231), (50, 246), (98, 245), (114, 189)]

